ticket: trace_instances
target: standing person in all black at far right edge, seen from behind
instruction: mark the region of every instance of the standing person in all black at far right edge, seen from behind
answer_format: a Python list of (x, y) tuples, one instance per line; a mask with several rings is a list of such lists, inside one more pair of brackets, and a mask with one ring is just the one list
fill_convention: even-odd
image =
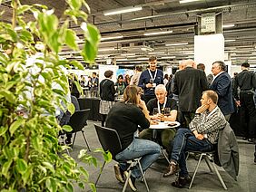
[[(249, 71), (250, 64), (243, 62), (241, 70), (234, 79), (234, 98), (240, 106), (241, 128), (243, 137), (255, 142), (256, 139), (256, 110), (253, 101), (254, 90), (256, 89), (256, 75)], [(238, 96), (240, 88), (240, 96)]]

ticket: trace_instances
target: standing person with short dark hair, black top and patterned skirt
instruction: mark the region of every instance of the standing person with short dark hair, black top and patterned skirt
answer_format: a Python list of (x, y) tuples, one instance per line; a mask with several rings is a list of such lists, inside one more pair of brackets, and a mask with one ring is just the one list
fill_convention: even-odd
[(100, 111), (99, 113), (102, 114), (102, 126), (104, 126), (104, 121), (106, 119), (106, 116), (109, 112), (109, 110), (113, 106), (114, 101), (114, 94), (115, 89), (113, 85), (113, 81), (111, 80), (113, 77), (113, 72), (111, 70), (108, 70), (104, 72), (105, 79), (100, 82)]

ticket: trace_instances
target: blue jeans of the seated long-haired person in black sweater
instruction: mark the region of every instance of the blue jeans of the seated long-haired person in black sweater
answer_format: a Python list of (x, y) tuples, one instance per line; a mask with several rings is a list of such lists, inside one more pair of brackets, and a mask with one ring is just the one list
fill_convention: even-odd
[[(141, 158), (140, 162), (143, 168), (143, 172), (153, 164), (153, 162), (161, 155), (160, 146), (146, 139), (133, 139), (133, 142), (123, 151), (118, 153), (115, 158), (116, 160), (129, 160), (132, 158)], [(125, 170), (127, 168), (126, 163), (120, 163), (120, 168)], [(142, 173), (139, 165), (132, 170), (133, 178), (141, 178)]]

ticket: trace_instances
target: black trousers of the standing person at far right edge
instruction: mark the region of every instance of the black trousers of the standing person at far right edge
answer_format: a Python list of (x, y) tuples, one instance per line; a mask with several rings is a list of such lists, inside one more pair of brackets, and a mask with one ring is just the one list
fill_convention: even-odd
[(240, 103), (241, 132), (248, 139), (256, 138), (256, 110), (253, 101), (253, 92), (241, 91)]

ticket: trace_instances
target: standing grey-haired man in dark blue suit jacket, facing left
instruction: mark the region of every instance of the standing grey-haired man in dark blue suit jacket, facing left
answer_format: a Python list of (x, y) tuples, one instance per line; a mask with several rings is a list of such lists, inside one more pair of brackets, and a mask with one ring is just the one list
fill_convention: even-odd
[(218, 106), (222, 110), (227, 121), (230, 120), (231, 113), (234, 112), (232, 101), (231, 77), (226, 70), (226, 65), (222, 61), (212, 63), (212, 74), (214, 76), (210, 90), (216, 91), (219, 96)]

